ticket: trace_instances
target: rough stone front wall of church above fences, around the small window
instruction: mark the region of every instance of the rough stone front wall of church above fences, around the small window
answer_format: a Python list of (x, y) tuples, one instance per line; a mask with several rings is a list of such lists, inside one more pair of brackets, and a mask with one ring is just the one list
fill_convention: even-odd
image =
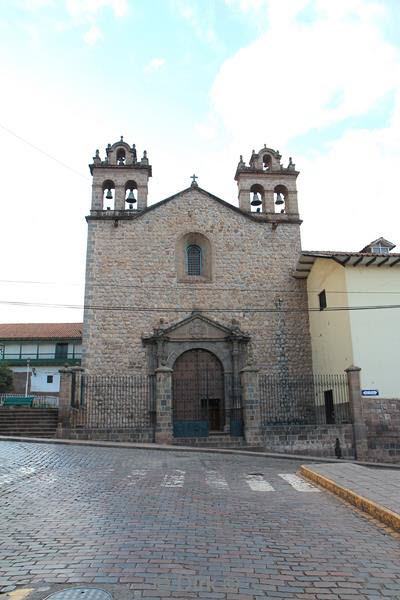
[[(177, 281), (177, 240), (190, 232), (210, 241), (210, 283)], [(82, 366), (88, 373), (145, 373), (141, 337), (205, 309), (222, 324), (236, 319), (262, 372), (311, 372), (305, 282), (291, 277), (299, 252), (298, 223), (274, 230), (196, 188), (117, 227), (111, 218), (89, 217), (85, 304), (116, 310), (85, 310)]]

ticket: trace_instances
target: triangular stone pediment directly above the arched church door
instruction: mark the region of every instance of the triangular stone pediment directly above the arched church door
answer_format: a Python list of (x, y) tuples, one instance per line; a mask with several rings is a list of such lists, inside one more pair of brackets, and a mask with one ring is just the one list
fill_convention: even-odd
[(246, 340), (248, 336), (235, 325), (227, 327), (205, 317), (201, 313), (194, 312), (190, 317), (166, 329), (158, 329), (154, 332), (154, 335), (145, 338), (144, 341), (156, 341), (157, 339), (171, 341), (223, 340), (232, 338)]

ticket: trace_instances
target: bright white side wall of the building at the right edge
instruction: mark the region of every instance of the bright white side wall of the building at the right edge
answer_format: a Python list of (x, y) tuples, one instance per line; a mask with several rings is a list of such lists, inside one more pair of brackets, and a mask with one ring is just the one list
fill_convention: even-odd
[[(346, 267), (350, 306), (400, 304), (398, 267)], [(349, 312), (354, 362), (361, 386), (385, 398), (400, 398), (400, 309)]]

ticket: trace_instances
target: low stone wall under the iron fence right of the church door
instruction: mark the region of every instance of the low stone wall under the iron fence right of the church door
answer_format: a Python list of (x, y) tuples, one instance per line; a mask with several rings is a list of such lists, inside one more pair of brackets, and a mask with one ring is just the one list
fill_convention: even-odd
[(352, 425), (272, 425), (263, 432), (267, 452), (335, 458), (338, 438), (342, 456), (354, 457)]

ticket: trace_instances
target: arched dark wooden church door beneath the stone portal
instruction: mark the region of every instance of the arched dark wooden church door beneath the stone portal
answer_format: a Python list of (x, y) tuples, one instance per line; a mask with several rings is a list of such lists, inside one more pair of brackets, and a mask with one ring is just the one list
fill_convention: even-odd
[(181, 354), (172, 383), (176, 437), (203, 437), (224, 430), (224, 370), (215, 354), (201, 348)]

